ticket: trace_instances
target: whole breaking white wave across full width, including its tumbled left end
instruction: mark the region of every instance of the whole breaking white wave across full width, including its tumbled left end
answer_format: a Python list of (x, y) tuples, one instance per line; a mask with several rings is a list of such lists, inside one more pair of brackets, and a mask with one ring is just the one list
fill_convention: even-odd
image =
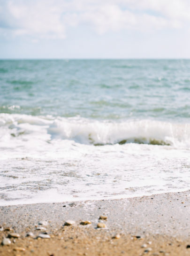
[[(6, 127), (6, 129), (5, 129)], [(8, 128), (8, 129), (7, 129)], [(0, 139), (32, 135), (94, 146), (138, 143), (190, 147), (190, 124), (156, 120), (97, 121), (82, 117), (0, 114)], [(46, 135), (46, 136), (45, 136)], [(23, 137), (22, 137), (23, 138)]]

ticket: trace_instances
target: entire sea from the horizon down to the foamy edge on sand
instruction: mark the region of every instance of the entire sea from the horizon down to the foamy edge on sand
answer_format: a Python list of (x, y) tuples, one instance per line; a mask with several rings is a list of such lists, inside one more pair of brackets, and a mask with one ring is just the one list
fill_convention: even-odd
[(190, 189), (190, 60), (1, 60), (0, 205)]

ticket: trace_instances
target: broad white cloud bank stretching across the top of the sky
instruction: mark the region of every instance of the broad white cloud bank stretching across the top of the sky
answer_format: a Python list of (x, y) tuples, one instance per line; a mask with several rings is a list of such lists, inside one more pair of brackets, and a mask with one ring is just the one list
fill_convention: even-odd
[(189, 13), (189, 0), (1, 0), (0, 27), (16, 36), (64, 39), (69, 27), (83, 24), (99, 34), (179, 29), (189, 25)]

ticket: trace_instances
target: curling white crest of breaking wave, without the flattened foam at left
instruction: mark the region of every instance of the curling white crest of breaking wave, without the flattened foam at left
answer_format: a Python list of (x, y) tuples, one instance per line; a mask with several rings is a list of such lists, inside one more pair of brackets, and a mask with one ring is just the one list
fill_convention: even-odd
[(190, 124), (172, 124), (152, 120), (125, 122), (56, 120), (48, 128), (52, 139), (69, 139), (83, 144), (190, 145)]

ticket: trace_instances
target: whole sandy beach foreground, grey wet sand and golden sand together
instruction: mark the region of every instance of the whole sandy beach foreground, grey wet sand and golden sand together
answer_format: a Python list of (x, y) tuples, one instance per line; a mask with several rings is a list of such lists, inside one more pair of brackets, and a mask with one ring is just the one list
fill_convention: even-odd
[[(67, 220), (75, 224), (64, 225)], [(90, 225), (80, 224), (87, 220)], [(106, 227), (97, 228), (98, 223)], [(11, 241), (1, 244), (2, 256), (190, 255), (190, 191), (120, 200), (1, 206), (0, 226), (0, 241), (7, 237)], [(33, 236), (26, 237), (28, 232)], [(12, 233), (19, 237), (12, 237)], [(39, 238), (40, 233), (49, 238)]]

